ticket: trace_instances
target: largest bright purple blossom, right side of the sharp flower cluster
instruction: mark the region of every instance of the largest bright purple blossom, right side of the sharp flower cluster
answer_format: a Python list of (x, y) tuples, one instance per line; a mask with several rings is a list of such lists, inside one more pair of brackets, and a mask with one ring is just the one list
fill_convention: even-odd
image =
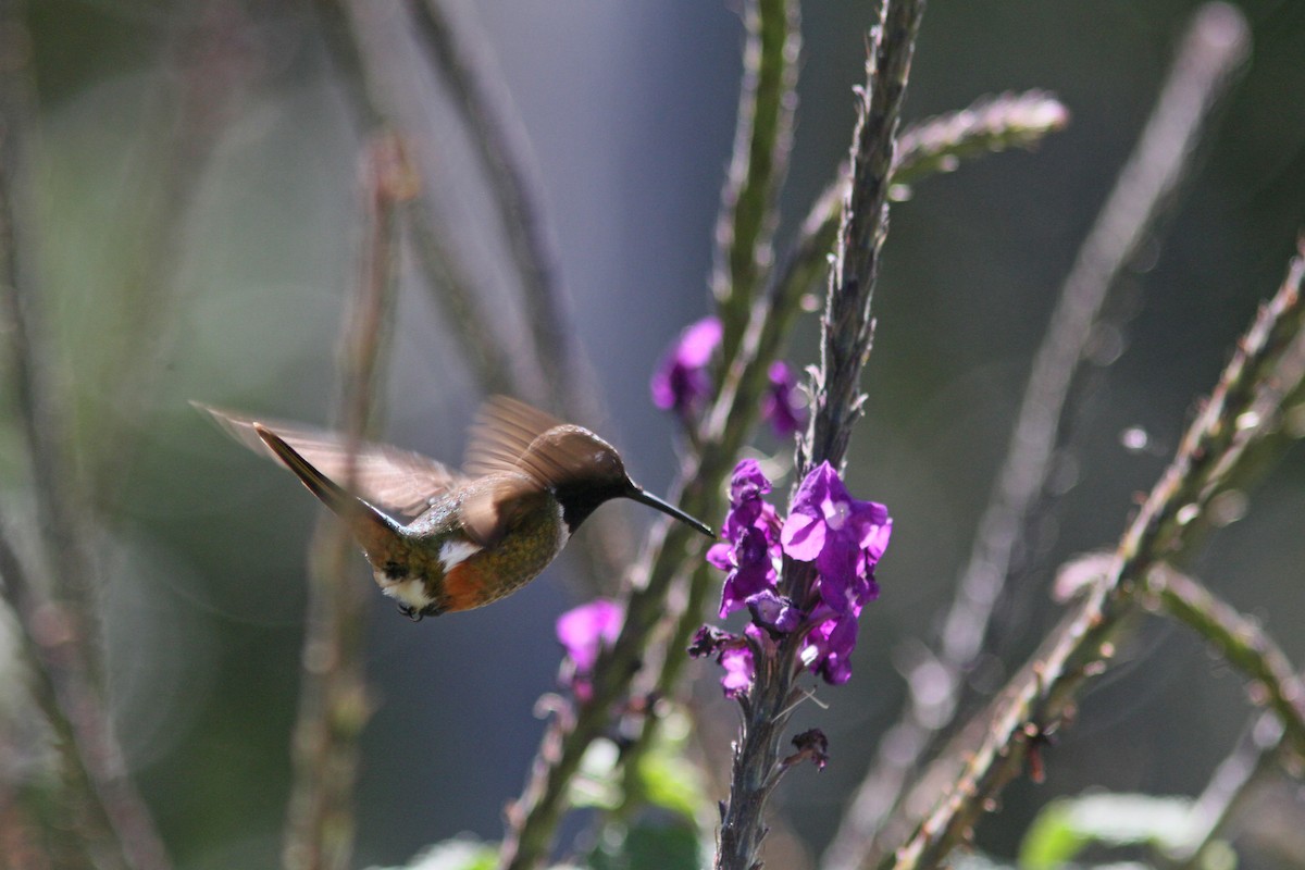
[(822, 462), (799, 487), (779, 540), (791, 558), (816, 563), (821, 599), (842, 614), (870, 600), (874, 565), (891, 531), (887, 509), (852, 498)]

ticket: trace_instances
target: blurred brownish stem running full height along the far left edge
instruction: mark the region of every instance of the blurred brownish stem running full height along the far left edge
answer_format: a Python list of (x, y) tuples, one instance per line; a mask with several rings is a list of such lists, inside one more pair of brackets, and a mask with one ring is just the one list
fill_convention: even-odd
[(54, 377), (54, 353), (35, 310), (37, 278), (27, 265), (37, 240), (23, 224), (27, 200), (20, 192), (23, 149), (34, 136), (35, 89), (21, 4), (0, 4), (0, 31), (8, 34), (0, 57), (0, 331), (12, 377), (7, 393), (16, 399), (40, 528), (40, 552), (31, 557), (47, 574), (44, 588), (30, 582), (0, 518), (0, 587), (20, 626), (33, 697), (59, 738), (77, 849), (97, 867), (167, 870), (167, 850), (130, 781), (102, 697), (94, 562), (82, 539), (94, 531), (94, 511), (72, 509), (78, 493), (70, 485), (67, 395)]

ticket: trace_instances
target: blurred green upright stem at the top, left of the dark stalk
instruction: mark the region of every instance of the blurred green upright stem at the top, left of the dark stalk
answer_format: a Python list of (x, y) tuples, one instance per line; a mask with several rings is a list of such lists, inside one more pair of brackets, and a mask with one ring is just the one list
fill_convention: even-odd
[(743, 9), (743, 86), (711, 278), (726, 368), (743, 342), (757, 288), (774, 258), (775, 200), (788, 168), (797, 108), (799, 16), (796, 0), (749, 0)]

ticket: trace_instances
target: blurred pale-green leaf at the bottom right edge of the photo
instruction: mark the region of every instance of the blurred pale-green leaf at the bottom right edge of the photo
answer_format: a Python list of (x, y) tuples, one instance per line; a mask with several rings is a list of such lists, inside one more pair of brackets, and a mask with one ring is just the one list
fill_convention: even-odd
[(1023, 870), (1053, 870), (1086, 847), (1151, 845), (1161, 850), (1191, 837), (1191, 801), (1148, 794), (1090, 794), (1052, 801), (1034, 819), (1019, 849)]

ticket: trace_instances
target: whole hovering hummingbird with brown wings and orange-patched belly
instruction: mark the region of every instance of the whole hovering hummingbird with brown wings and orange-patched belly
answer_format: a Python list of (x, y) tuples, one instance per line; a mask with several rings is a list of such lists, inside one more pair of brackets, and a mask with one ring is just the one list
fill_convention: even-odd
[(482, 404), (462, 471), (381, 443), (360, 442), (351, 455), (338, 433), (192, 404), (295, 472), (346, 523), (381, 591), (412, 621), (515, 592), (612, 498), (649, 505), (715, 536), (630, 480), (607, 441), (506, 397)]

